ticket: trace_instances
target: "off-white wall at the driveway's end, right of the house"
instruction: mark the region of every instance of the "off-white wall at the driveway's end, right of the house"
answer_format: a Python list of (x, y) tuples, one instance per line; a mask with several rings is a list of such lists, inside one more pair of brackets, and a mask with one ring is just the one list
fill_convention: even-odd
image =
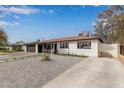
[(119, 53), (118, 44), (99, 44), (99, 53), (108, 53), (113, 57), (117, 57)]

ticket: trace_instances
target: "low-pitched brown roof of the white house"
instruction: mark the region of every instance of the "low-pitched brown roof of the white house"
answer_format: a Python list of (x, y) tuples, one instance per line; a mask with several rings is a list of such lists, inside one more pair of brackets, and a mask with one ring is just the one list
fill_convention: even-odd
[(98, 37), (87, 37), (87, 36), (73, 36), (73, 37), (64, 37), (64, 38), (55, 38), (55, 39), (48, 39), (44, 41), (36, 41), (31, 43), (26, 43), (26, 45), (34, 45), (34, 44), (42, 44), (42, 43), (52, 43), (52, 42), (64, 42), (64, 41), (77, 41), (77, 40), (96, 40), (103, 42), (102, 39)]

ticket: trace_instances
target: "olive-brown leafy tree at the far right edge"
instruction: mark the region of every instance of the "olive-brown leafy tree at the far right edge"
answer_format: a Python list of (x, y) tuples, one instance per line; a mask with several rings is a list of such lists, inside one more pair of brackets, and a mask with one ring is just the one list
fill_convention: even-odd
[(114, 5), (111, 6), (114, 11), (114, 40), (118, 43), (124, 44), (124, 6)]

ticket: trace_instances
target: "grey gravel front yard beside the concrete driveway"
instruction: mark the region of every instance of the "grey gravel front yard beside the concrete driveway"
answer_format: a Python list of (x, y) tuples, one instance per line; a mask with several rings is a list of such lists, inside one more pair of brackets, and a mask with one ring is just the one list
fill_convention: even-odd
[(53, 55), (52, 59), (52, 61), (44, 62), (40, 57), (35, 57), (0, 63), (0, 87), (42, 87), (84, 58)]

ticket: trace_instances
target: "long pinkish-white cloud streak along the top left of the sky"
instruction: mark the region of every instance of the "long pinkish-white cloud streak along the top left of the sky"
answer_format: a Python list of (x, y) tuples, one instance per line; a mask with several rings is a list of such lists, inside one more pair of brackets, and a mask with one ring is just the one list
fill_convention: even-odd
[[(6, 13), (6, 14), (24, 14), (24, 15), (30, 15), (35, 13), (43, 13), (43, 14), (53, 14), (55, 13), (55, 10), (53, 9), (37, 9), (32, 8), (29, 6), (0, 6), (0, 12)], [(15, 18), (19, 19), (19, 17), (14, 16)]]

